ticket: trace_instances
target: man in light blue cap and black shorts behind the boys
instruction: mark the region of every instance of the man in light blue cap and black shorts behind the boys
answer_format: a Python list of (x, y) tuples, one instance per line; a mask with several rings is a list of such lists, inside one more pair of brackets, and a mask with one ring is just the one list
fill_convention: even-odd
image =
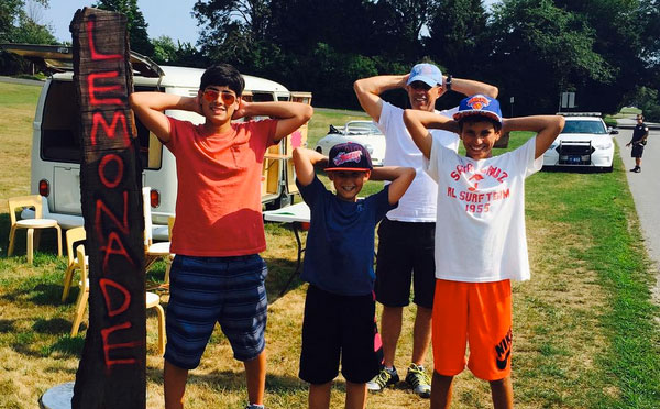
[[(406, 383), (421, 397), (431, 394), (430, 379), (424, 369), (431, 339), (431, 314), (435, 291), (433, 261), (436, 234), (437, 184), (422, 172), (424, 156), (417, 148), (404, 124), (404, 110), (384, 101), (381, 95), (402, 88), (408, 93), (414, 110), (437, 112), (451, 118), (457, 108), (436, 111), (436, 101), (447, 91), (465, 96), (483, 93), (497, 97), (497, 88), (487, 84), (444, 77), (432, 64), (417, 64), (409, 74), (383, 75), (359, 79), (354, 84), (360, 104), (376, 122), (386, 139), (385, 166), (406, 166), (417, 170), (413, 185), (389, 211), (378, 228), (378, 254), (376, 258), (376, 300), (381, 302), (381, 335), (383, 339), (383, 368), (367, 383), (370, 390), (382, 390), (399, 380), (394, 366), (404, 307), (410, 298), (414, 284), (417, 314), (413, 330), (413, 357)], [(432, 130), (440, 143), (453, 151), (459, 147), (457, 134)]]

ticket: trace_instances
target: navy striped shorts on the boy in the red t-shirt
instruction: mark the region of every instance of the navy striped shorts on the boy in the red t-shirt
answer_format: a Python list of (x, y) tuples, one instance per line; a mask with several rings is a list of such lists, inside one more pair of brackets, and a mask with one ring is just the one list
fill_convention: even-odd
[(268, 300), (266, 263), (258, 254), (235, 257), (176, 255), (169, 272), (165, 360), (193, 369), (216, 322), (239, 361), (255, 358), (265, 347)]

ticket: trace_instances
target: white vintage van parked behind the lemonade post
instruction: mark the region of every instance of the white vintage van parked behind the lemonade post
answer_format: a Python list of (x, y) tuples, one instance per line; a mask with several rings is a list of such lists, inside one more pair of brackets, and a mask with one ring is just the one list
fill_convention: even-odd
[[(77, 107), (73, 84), (73, 48), (1, 44), (4, 49), (30, 58), (42, 58), (48, 66), (65, 71), (48, 78), (42, 89), (33, 124), (32, 174), (30, 190), (47, 198), (50, 219), (65, 228), (82, 225), (80, 209), (80, 145), (76, 134)], [(135, 91), (162, 91), (196, 96), (204, 69), (157, 66), (148, 58), (131, 53)], [(311, 102), (309, 92), (293, 93), (280, 84), (244, 75), (243, 98), (249, 101)], [(204, 117), (194, 112), (167, 111), (168, 115), (194, 123)], [(167, 240), (167, 219), (175, 213), (176, 163), (174, 155), (135, 118), (142, 163), (142, 186), (150, 186), (154, 239)], [(299, 132), (299, 133), (298, 133)], [(262, 202), (268, 209), (288, 204), (297, 192), (290, 165), (293, 148), (305, 144), (307, 125), (278, 145), (272, 146), (264, 159)], [(23, 217), (30, 217), (29, 213)]]

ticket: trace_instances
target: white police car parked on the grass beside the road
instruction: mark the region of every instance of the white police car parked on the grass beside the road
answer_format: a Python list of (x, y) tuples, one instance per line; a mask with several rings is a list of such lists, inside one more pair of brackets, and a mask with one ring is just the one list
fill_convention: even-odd
[(543, 168), (594, 169), (612, 172), (613, 134), (600, 112), (558, 112), (565, 117), (563, 131), (543, 154)]

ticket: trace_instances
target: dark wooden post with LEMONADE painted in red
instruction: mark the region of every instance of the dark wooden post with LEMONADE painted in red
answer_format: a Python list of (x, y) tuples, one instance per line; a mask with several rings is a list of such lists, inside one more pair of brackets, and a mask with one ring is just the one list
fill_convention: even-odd
[[(89, 255), (89, 328), (72, 408), (145, 408), (145, 283), (141, 169), (129, 95), (127, 18), (78, 10), (74, 84)], [(75, 101), (72, 101), (75, 103)]]

